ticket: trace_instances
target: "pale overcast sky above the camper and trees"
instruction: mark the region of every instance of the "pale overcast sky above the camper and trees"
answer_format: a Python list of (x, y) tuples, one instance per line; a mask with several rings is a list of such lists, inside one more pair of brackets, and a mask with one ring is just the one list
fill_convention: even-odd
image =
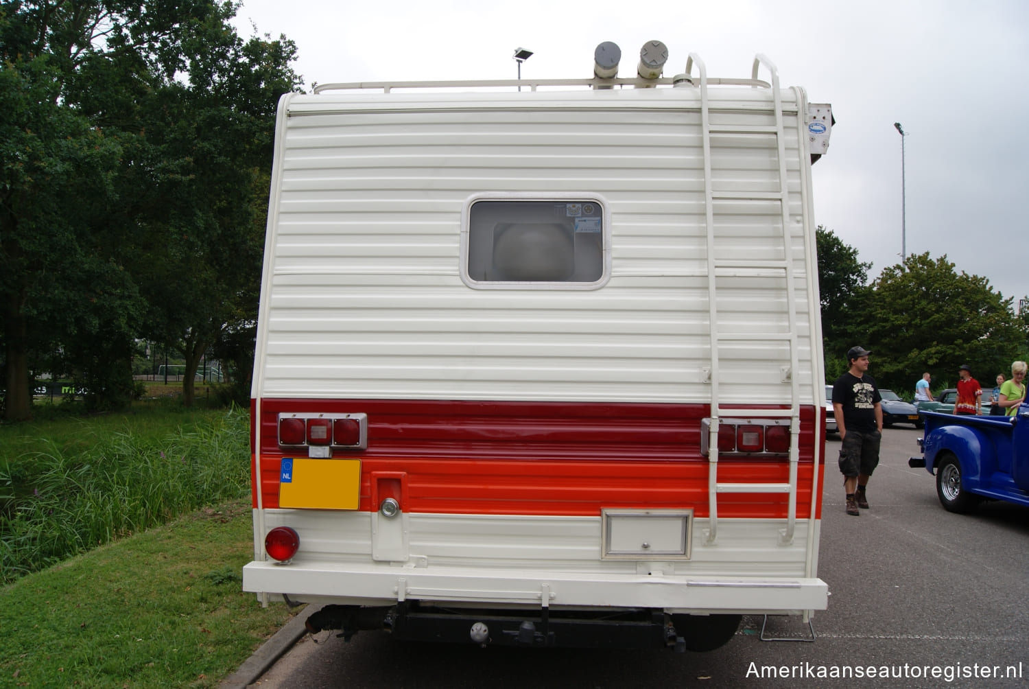
[[(698, 53), (709, 76), (748, 77), (754, 55), (780, 82), (832, 104), (815, 165), (815, 219), (872, 262), (900, 261), (901, 139), (907, 251), (947, 254), (1004, 297), (1029, 294), (1029, 2), (928, 0), (245, 0), (241, 34), (285, 34), (313, 82), (588, 78), (602, 41), (633, 76), (640, 46), (664, 41), (665, 75)], [(696, 71), (696, 70), (695, 70)], [(912, 314), (913, 316), (916, 314)]]

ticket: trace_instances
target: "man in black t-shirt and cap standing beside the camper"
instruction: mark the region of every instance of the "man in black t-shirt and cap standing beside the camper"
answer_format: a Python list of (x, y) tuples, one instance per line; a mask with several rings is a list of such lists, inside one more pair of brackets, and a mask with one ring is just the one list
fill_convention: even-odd
[(847, 350), (850, 369), (832, 385), (832, 416), (840, 430), (840, 472), (844, 476), (847, 514), (858, 516), (867, 510), (864, 489), (879, 466), (879, 444), (883, 439), (883, 407), (879, 388), (868, 370), (863, 347)]

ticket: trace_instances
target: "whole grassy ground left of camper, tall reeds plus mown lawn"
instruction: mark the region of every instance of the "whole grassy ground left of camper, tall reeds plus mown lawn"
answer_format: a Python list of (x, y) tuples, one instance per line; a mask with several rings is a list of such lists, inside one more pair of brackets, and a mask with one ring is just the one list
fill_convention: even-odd
[(213, 687), (290, 614), (242, 592), (249, 414), (0, 423), (0, 686)]

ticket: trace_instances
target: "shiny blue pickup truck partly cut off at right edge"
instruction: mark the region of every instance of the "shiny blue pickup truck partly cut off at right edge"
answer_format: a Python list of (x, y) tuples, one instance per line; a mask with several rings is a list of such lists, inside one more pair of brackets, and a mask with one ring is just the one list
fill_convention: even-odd
[(908, 464), (936, 475), (945, 509), (968, 512), (984, 499), (1029, 506), (1029, 404), (1014, 417), (920, 413), (922, 456)]

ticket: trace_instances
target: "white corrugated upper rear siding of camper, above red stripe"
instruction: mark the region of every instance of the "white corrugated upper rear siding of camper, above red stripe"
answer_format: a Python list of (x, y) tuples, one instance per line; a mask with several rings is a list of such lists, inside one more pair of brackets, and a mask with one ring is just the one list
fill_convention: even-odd
[[(774, 124), (771, 94), (712, 89), (712, 123)], [(786, 110), (802, 401), (811, 313), (797, 98)], [(258, 397), (708, 402), (704, 161), (691, 89), (296, 96), (276, 151)], [(280, 123), (280, 126), (281, 123)], [(778, 191), (775, 137), (714, 134), (715, 192)], [(599, 195), (601, 288), (473, 289), (462, 208), (491, 192)], [(718, 257), (783, 257), (777, 202), (717, 202)], [(812, 231), (813, 232), (813, 231)], [(813, 253), (813, 252), (812, 252)], [(731, 273), (731, 271), (730, 271)], [(719, 274), (720, 275), (720, 274)], [(786, 288), (720, 276), (720, 330), (785, 333)], [(782, 403), (785, 343), (719, 352), (722, 403)], [(817, 381), (819, 384), (821, 381)]]

